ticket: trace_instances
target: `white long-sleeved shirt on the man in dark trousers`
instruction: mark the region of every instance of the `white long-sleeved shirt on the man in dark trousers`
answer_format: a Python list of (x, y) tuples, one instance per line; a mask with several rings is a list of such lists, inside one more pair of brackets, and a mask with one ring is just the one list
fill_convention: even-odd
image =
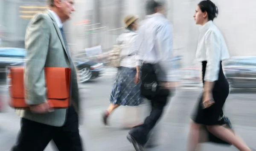
[(159, 81), (175, 81), (172, 67), (172, 24), (160, 13), (147, 15), (138, 30), (140, 60), (156, 66)]

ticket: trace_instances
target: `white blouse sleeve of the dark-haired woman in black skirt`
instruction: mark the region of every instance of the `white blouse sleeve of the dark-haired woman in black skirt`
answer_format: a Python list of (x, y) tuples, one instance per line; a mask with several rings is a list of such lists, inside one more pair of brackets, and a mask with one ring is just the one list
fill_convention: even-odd
[(205, 37), (207, 67), (204, 81), (218, 80), (221, 61), (221, 41), (215, 32), (210, 31)]

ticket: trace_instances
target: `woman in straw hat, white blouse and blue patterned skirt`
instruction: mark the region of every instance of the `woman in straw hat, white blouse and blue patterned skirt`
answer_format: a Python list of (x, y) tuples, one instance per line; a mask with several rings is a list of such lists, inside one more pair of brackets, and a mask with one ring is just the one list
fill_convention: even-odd
[(108, 110), (103, 112), (102, 120), (108, 125), (108, 117), (114, 109), (122, 106), (138, 106), (143, 101), (140, 96), (140, 60), (139, 44), (136, 43), (138, 34), (138, 17), (128, 15), (124, 18), (125, 32), (116, 39), (117, 44), (125, 44), (121, 55), (124, 56), (116, 75), (116, 80), (110, 95)]

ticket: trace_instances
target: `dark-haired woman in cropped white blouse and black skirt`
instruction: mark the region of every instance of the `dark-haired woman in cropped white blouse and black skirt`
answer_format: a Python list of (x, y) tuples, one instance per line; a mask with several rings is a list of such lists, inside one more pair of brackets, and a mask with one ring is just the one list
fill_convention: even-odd
[(217, 15), (218, 9), (210, 0), (201, 1), (195, 10), (195, 23), (202, 25), (196, 58), (202, 62), (204, 92), (190, 125), (188, 150), (196, 150), (200, 128), (206, 125), (214, 136), (236, 146), (240, 151), (251, 151), (232, 131), (218, 124), (229, 94), (229, 84), (222, 71), (221, 61), (229, 58), (229, 52), (223, 35), (212, 22)]

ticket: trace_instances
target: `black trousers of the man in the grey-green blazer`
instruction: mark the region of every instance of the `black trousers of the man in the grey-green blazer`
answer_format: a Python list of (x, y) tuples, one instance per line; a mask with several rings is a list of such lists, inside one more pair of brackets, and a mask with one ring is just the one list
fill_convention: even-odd
[(83, 151), (78, 115), (73, 107), (67, 112), (66, 122), (62, 127), (22, 118), (17, 143), (12, 151), (44, 151), (51, 140), (55, 142), (59, 151)]

